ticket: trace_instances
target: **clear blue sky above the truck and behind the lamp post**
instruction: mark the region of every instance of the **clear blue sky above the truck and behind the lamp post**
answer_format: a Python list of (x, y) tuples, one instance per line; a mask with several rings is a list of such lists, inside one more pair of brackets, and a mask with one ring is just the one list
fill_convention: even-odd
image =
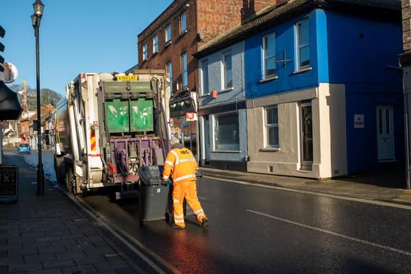
[[(36, 88), (35, 0), (0, 0), (3, 55), (18, 69), (14, 83)], [(40, 88), (65, 95), (81, 72), (124, 72), (138, 62), (137, 36), (173, 0), (42, 0)], [(11, 85), (9, 84), (9, 85)]]

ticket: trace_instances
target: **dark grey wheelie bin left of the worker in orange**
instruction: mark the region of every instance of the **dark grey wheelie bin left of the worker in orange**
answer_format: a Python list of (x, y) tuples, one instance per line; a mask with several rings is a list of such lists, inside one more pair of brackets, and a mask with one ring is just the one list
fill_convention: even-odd
[(137, 169), (141, 184), (138, 190), (140, 225), (165, 219), (169, 186), (162, 184), (164, 166), (142, 166)]

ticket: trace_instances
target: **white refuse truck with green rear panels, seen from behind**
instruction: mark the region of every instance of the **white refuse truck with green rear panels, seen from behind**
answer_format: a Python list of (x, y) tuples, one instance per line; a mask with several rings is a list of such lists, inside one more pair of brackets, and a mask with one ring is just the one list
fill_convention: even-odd
[(169, 79), (164, 70), (80, 73), (55, 112), (54, 167), (73, 195), (120, 186), (138, 193), (140, 166), (164, 164), (170, 149)]

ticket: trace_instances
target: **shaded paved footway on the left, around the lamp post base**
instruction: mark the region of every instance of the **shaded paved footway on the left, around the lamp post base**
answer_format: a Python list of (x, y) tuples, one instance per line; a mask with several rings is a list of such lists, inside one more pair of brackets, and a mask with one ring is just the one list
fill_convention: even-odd
[(18, 199), (0, 203), (1, 274), (152, 272), (60, 185), (45, 179), (38, 196), (34, 167), (12, 155), (5, 164), (18, 166)]

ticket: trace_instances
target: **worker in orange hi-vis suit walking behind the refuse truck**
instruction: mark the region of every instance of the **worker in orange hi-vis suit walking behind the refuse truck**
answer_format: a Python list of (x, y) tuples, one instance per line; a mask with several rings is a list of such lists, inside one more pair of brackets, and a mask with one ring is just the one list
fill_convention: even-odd
[(163, 181), (164, 184), (171, 184), (170, 175), (173, 179), (173, 228), (185, 229), (184, 224), (184, 198), (192, 211), (201, 223), (201, 227), (208, 227), (208, 219), (197, 198), (197, 186), (195, 171), (197, 170), (197, 160), (190, 149), (186, 149), (177, 140), (171, 143), (171, 151), (167, 154), (164, 162)]

